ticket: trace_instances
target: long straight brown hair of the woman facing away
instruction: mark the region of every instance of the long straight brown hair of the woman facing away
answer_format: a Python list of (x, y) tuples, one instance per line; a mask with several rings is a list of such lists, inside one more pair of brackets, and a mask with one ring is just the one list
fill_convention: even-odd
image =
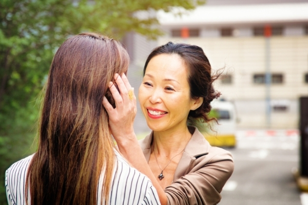
[(108, 83), (128, 64), (120, 43), (95, 33), (72, 36), (57, 50), (45, 88), (38, 150), (27, 174), (32, 205), (97, 204), (101, 172), (102, 202), (107, 203), (115, 162), (102, 101), (106, 94), (110, 101)]

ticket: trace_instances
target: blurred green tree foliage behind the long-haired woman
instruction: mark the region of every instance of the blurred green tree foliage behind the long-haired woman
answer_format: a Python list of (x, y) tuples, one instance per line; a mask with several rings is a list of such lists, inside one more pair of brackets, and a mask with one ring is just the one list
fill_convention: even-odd
[(194, 9), (205, 0), (0, 0), (0, 204), (4, 173), (31, 147), (38, 116), (36, 98), (52, 57), (70, 35), (95, 31), (120, 39), (133, 31), (161, 34), (156, 16), (142, 11)]

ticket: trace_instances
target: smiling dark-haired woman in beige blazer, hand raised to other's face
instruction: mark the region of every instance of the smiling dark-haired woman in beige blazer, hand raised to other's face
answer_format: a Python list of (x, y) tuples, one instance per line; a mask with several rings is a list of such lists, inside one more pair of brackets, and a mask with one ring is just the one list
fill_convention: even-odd
[[(139, 101), (151, 134), (138, 145), (132, 129), (133, 113), (121, 101), (130, 85), (116, 77), (121, 96), (110, 89), (117, 108), (106, 101), (111, 132), (120, 152), (156, 187), (162, 204), (217, 204), (234, 170), (232, 155), (211, 147), (193, 121), (214, 120), (210, 102), (220, 93), (217, 76), (198, 46), (169, 42), (153, 50), (144, 66)], [(114, 92), (113, 92), (114, 91)]]

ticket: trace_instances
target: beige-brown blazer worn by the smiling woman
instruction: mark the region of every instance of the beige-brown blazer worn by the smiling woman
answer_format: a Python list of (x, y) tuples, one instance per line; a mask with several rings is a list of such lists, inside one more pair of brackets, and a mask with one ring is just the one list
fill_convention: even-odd
[[(176, 169), (174, 181), (166, 187), (168, 204), (217, 204), (223, 186), (234, 170), (232, 155), (221, 148), (211, 147), (196, 127), (188, 127), (191, 139)], [(153, 132), (140, 140), (148, 161)]]

